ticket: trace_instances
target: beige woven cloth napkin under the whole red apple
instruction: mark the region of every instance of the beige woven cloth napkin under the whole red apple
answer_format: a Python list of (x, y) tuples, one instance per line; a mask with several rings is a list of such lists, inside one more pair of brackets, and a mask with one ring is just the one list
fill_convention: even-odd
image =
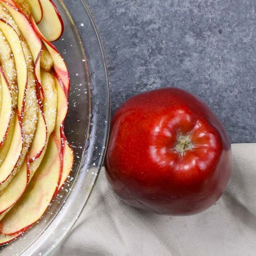
[(84, 212), (51, 256), (256, 256), (256, 143), (233, 144), (232, 151), (226, 192), (189, 217), (128, 206), (102, 170)]

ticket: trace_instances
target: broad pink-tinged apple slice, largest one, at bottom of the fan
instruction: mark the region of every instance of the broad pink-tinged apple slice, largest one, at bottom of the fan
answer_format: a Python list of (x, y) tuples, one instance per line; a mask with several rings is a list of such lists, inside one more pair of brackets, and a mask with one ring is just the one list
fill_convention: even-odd
[(59, 185), (60, 160), (54, 134), (47, 152), (25, 193), (0, 221), (0, 231), (6, 235), (23, 232), (44, 214)]

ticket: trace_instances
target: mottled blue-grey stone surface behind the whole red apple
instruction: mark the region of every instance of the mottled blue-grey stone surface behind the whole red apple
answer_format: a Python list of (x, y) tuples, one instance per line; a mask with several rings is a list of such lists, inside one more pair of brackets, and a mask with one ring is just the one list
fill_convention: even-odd
[(256, 1), (87, 0), (102, 39), (112, 113), (159, 87), (204, 99), (233, 143), (256, 142)]

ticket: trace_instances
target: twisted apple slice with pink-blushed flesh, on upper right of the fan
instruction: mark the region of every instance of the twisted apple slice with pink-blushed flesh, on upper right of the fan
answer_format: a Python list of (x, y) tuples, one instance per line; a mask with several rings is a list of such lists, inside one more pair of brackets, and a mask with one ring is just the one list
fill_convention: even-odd
[(61, 57), (56, 47), (53, 44), (51, 44), (49, 41), (47, 41), (44, 35), (42, 35), (42, 33), (40, 32), (40, 29), (38, 29), (38, 26), (35, 23), (35, 20), (33, 19), (32, 16), (30, 17), (30, 22), (33, 28), (35, 29), (35, 32), (37, 32), (38, 36), (42, 39), (50, 55), (52, 56), (53, 69), (55, 70), (57, 75), (60, 77), (61, 81), (64, 84), (66, 94), (68, 94), (70, 89), (70, 76), (69, 76), (67, 65), (65, 64), (64, 59)]

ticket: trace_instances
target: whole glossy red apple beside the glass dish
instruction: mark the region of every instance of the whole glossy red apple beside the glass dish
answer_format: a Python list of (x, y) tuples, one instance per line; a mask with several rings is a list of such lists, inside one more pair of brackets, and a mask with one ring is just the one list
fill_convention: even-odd
[[(192, 148), (176, 150), (180, 136)], [(166, 215), (212, 206), (232, 171), (230, 139), (200, 99), (163, 88), (128, 99), (113, 115), (106, 175), (126, 203)]]

